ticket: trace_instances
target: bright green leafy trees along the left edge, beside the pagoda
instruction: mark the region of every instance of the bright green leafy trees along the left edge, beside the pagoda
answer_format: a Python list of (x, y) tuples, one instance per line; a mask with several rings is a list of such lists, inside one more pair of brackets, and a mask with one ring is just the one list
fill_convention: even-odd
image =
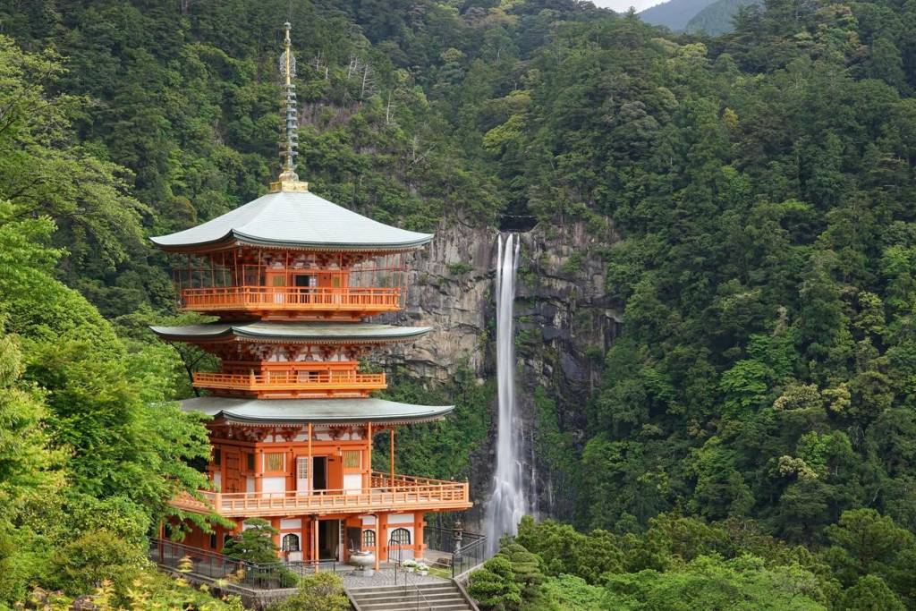
[(41, 81), (57, 70), (0, 37), (4, 185), (52, 177), (23, 183), (34, 197), (0, 195), (0, 606), (36, 585), (73, 596), (101, 587), (106, 604), (127, 606), (145, 587), (136, 580), (153, 579), (147, 534), (176, 514), (172, 496), (205, 486), (190, 462), (209, 447), (201, 420), (169, 402), (169, 351), (126, 344), (55, 278), (59, 213), (114, 259), (112, 232), (138, 231), (116, 169), (61, 144), (71, 101)]

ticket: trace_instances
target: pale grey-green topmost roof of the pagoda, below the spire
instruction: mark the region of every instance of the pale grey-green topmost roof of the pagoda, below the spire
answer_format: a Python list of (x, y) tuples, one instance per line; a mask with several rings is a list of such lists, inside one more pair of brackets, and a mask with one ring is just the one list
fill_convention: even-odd
[(267, 193), (196, 227), (150, 238), (163, 250), (205, 252), (234, 245), (306, 250), (398, 252), (432, 239), (337, 205), (310, 191)]

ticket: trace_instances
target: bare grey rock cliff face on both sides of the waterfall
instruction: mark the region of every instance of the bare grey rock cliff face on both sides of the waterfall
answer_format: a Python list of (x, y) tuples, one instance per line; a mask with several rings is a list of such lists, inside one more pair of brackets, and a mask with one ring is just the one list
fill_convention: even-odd
[[(481, 380), (495, 375), (496, 235), (490, 228), (451, 224), (409, 262), (412, 269), (406, 311), (389, 319), (431, 326), (415, 344), (387, 356), (411, 376), (430, 381), (452, 377), (459, 366)], [(614, 239), (610, 227), (586, 231), (583, 224), (538, 225), (521, 235), (521, 261), (515, 302), (518, 357), (518, 411), (525, 442), (523, 473), (532, 507), (541, 515), (566, 516), (571, 507), (553, 492), (563, 480), (556, 464), (539, 452), (540, 431), (559, 427), (578, 438), (583, 406), (599, 381), (605, 350), (619, 332), (620, 312), (605, 293), (602, 251)], [(534, 396), (553, 402), (538, 409)], [(495, 462), (496, 400), (481, 406), (492, 415), (491, 434), (476, 455), (471, 487), (479, 519), (489, 495)], [(545, 419), (552, 419), (547, 422)]]

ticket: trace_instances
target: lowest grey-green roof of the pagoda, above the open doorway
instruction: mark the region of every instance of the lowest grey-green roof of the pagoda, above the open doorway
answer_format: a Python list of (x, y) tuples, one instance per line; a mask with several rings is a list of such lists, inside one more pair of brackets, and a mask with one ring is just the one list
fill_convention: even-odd
[(229, 398), (195, 397), (183, 411), (202, 412), (215, 420), (241, 424), (398, 424), (442, 420), (453, 405), (426, 406), (382, 398)]

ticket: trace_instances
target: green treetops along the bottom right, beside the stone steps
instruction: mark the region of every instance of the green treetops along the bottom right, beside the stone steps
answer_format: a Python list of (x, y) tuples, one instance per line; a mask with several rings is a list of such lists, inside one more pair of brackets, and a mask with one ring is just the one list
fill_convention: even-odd
[(662, 515), (640, 535), (523, 518), (471, 575), (485, 609), (772, 611), (916, 606), (916, 539), (870, 509), (847, 511), (831, 545), (791, 547), (758, 525)]

